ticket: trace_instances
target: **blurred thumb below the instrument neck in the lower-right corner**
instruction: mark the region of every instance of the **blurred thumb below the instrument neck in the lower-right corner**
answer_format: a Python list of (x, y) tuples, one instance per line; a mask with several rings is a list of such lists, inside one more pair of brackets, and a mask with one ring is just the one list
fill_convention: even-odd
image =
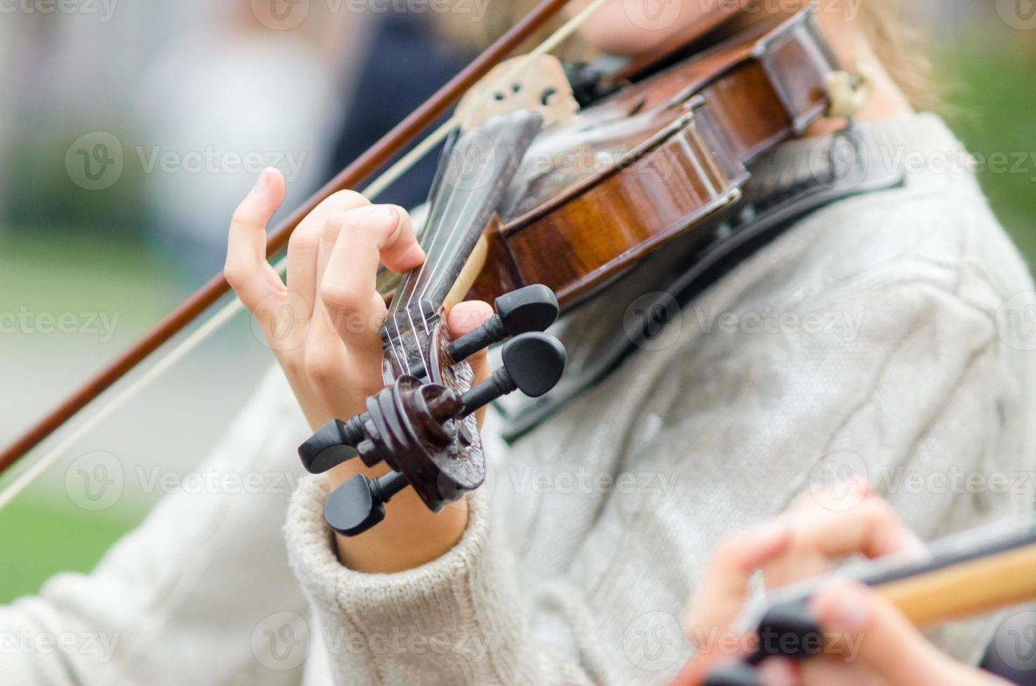
[(892, 603), (860, 583), (833, 582), (813, 598), (812, 608), (842, 659), (866, 664), (890, 686), (1004, 683), (941, 652)]

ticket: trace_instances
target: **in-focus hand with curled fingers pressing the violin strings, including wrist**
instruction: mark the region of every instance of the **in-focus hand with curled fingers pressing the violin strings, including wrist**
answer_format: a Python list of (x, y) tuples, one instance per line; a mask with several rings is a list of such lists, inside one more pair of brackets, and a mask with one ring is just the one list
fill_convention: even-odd
[[(295, 228), (288, 242), (287, 284), (266, 261), (266, 225), (284, 200), (285, 180), (266, 170), (231, 221), (224, 274), (259, 321), (310, 428), (333, 418), (348, 420), (366, 409), (382, 388), (378, 330), (387, 309), (375, 288), (378, 263), (396, 271), (420, 266), (425, 254), (402, 207), (372, 205), (358, 193), (333, 194)], [(447, 317), (461, 336), (492, 314), (485, 303), (462, 303)], [(287, 331), (280, 323), (287, 319)], [(468, 359), (477, 381), (486, 374), (485, 352)], [(332, 489), (356, 474), (376, 477), (387, 465), (368, 468), (348, 460), (325, 474)], [(367, 572), (410, 569), (434, 560), (460, 540), (466, 503), (433, 514), (413, 489), (387, 505), (375, 528), (337, 537), (339, 556)]]

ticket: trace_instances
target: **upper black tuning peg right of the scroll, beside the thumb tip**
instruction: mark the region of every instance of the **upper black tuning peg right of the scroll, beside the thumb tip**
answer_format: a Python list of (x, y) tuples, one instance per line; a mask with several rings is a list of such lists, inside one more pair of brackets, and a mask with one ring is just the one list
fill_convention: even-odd
[[(513, 336), (546, 331), (557, 320), (559, 311), (554, 291), (543, 284), (505, 293), (493, 302), (493, 307), (496, 314), (447, 346), (447, 352), (454, 362), (467, 360), (479, 350)], [(421, 377), (425, 375), (425, 370), (418, 365), (410, 373)]]

